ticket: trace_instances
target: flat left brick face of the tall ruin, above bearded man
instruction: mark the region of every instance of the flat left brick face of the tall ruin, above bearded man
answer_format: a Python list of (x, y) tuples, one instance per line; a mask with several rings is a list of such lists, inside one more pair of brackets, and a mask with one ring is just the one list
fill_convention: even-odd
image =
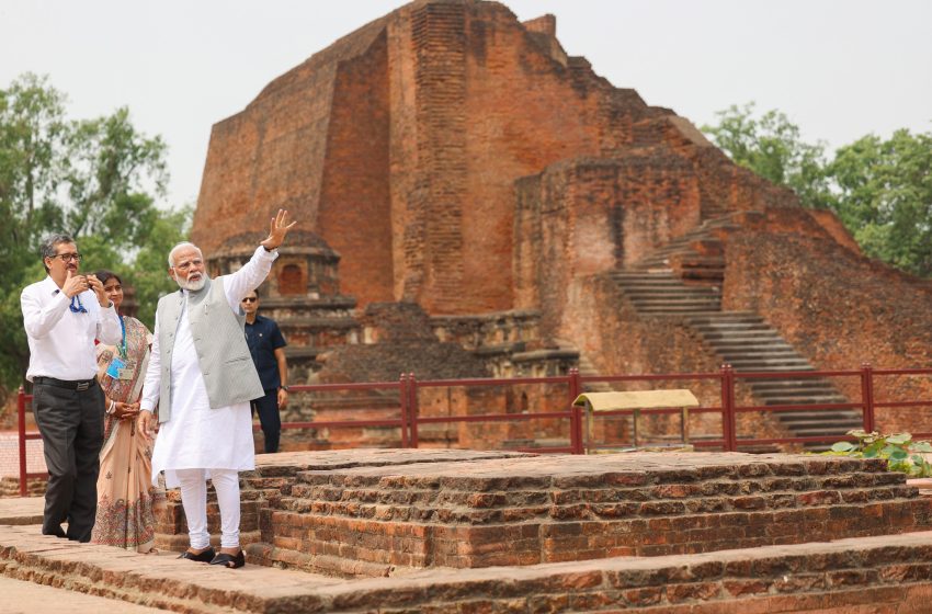
[[(338, 69), (341, 60), (372, 48), (384, 29), (379, 20), (341, 38), (214, 125), (192, 230), (207, 257), (229, 237), (268, 228), (280, 207), (288, 208), (304, 230), (317, 231)], [(365, 71), (365, 64), (351, 68)], [(340, 83), (345, 95), (352, 75), (341, 76)]]

